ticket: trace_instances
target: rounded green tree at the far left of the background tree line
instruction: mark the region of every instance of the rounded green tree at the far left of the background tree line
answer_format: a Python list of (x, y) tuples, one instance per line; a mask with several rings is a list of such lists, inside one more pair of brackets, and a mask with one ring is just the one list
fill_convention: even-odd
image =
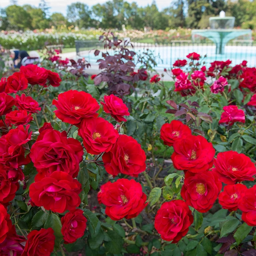
[(23, 7), (18, 5), (10, 5), (6, 8), (6, 17), (8, 20), (8, 28), (14, 30), (31, 29), (31, 16)]

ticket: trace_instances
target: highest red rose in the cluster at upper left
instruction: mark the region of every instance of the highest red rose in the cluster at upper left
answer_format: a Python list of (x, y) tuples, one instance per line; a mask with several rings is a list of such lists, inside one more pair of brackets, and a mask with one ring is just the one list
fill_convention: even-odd
[(20, 72), (25, 75), (25, 77), (28, 80), (28, 83), (32, 85), (40, 84), (44, 86), (48, 77), (47, 69), (43, 67), (38, 67), (37, 65), (34, 65), (34, 64), (21, 66)]

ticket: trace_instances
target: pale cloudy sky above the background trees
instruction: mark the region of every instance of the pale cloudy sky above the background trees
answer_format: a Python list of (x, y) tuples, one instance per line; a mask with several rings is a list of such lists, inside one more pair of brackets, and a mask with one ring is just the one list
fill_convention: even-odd
[[(16, 0), (17, 5), (24, 5), (29, 4), (35, 7), (39, 6), (40, 0)], [(148, 4), (151, 4), (153, 0), (125, 0), (126, 2), (132, 3), (136, 2), (139, 7), (147, 6)], [(156, 4), (158, 6), (159, 11), (162, 11), (165, 7), (169, 7), (171, 4), (171, 0), (155, 0)], [(50, 14), (53, 12), (61, 12), (64, 16), (66, 16), (66, 9), (67, 5), (70, 5), (75, 2), (81, 2), (84, 4), (87, 4), (88, 6), (93, 6), (95, 4), (103, 4), (107, 2), (107, 0), (46, 0), (46, 3), (50, 7), (49, 12)], [(93, 2), (93, 3), (92, 3)], [(8, 5), (11, 5), (10, 0), (0, 0), (0, 8), (5, 8)]]

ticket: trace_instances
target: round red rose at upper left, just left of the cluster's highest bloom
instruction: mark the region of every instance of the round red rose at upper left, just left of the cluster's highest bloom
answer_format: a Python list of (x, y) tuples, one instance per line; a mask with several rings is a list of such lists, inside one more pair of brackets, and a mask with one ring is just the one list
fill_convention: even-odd
[(28, 80), (24, 74), (15, 72), (7, 78), (7, 84), (5, 87), (6, 93), (16, 93), (20, 90), (25, 90), (28, 87)]

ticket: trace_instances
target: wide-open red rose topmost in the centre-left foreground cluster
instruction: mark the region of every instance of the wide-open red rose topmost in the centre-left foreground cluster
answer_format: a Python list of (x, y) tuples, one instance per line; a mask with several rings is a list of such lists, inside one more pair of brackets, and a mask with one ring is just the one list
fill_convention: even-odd
[(63, 122), (78, 124), (85, 117), (97, 117), (99, 104), (91, 94), (84, 91), (69, 90), (53, 99), (52, 104), (57, 107), (56, 116)]

